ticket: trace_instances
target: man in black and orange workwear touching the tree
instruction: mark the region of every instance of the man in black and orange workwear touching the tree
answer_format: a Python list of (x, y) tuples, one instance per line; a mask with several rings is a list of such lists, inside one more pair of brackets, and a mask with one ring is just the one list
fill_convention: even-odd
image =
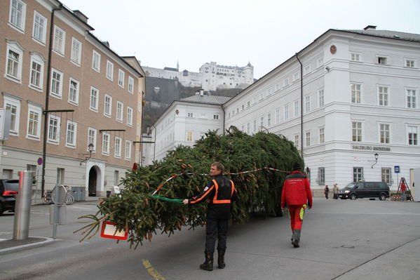
[(212, 180), (208, 182), (204, 191), (191, 199), (184, 199), (184, 204), (192, 206), (208, 200), (207, 222), (205, 224), (205, 262), (201, 269), (213, 270), (213, 254), (217, 242), (217, 265), (220, 269), (226, 267), (224, 253), (226, 252), (226, 234), (231, 215), (231, 203), (238, 199), (235, 185), (223, 175), (224, 166), (215, 162), (210, 166)]

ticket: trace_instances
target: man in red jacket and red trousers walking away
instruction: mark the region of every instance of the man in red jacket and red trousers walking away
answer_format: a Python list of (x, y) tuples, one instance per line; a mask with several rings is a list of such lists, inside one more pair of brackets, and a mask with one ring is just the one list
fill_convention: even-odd
[(281, 208), (289, 208), (290, 227), (292, 227), (292, 244), (299, 248), (300, 232), (304, 220), (305, 208), (312, 207), (312, 192), (308, 178), (302, 172), (299, 163), (294, 164), (293, 171), (286, 177), (281, 194)]

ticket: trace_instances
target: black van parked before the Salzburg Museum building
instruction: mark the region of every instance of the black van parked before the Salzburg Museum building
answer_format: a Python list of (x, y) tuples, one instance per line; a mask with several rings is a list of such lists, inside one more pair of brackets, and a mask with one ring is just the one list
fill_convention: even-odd
[(339, 190), (340, 199), (378, 198), (385, 200), (389, 197), (389, 187), (386, 182), (351, 182)]

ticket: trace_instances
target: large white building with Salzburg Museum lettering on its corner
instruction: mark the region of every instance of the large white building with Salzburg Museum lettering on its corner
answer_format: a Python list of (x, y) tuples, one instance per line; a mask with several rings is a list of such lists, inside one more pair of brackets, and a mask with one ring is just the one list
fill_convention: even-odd
[(410, 170), (420, 167), (419, 67), (419, 34), (329, 29), (226, 102), (225, 127), (264, 126), (303, 144), (315, 189), (358, 180), (396, 189), (394, 166), (411, 186)]

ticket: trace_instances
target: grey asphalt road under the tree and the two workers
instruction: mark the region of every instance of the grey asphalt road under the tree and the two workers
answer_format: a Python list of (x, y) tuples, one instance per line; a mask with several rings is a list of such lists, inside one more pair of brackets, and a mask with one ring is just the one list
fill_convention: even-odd
[[(420, 279), (415, 202), (315, 199), (300, 248), (287, 217), (253, 218), (230, 227), (226, 268), (212, 272), (198, 269), (204, 229), (154, 236), (135, 251), (99, 236), (79, 243), (76, 218), (94, 212), (92, 202), (68, 206), (55, 243), (0, 255), (0, 279)], [(48, 215), (32, 207), (30, 236), (52, 235)], [(13, 215), (0, 216), (0, 239), (12, 232)]]

